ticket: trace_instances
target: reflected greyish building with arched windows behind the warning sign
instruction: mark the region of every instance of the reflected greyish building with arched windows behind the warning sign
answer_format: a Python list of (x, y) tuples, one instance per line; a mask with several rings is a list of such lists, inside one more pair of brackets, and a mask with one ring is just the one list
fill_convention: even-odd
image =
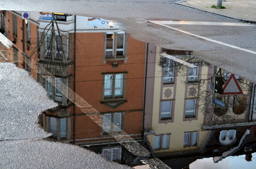
[[(215, 73), (216, 81), (213, 99), (222, 101), (225, 106), (221, 107), (216, 104), (208, 104), (206, 107), (204, 127), (211, 128), (214, 125), (248, 123), (250, 121), (250, 93), (252, 93), (250, 92), (250, 82), (238, 75), (231, 75), (231, 73), (221, 68), (216, 68)], [(229, 84), (227, 88), (231, 91), (240, 89), (241, 94), (232, 94), (232, 92), (222, 94), (226, 84)]]

